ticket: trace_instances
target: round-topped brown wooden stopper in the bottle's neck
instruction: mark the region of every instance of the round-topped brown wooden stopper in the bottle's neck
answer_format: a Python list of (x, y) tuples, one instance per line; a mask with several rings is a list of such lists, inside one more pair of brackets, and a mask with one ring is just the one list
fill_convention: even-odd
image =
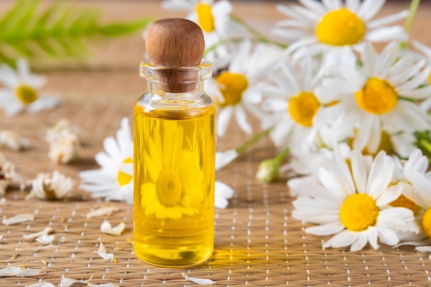
[(200, 27), (187, 19), (162, 19), (147, 30), (145, 49), (151, 65), (157, 70), (160, 89), (165, 92), (192, 92), (198, 82), (197, 69), (204, 53), (204, 35)]

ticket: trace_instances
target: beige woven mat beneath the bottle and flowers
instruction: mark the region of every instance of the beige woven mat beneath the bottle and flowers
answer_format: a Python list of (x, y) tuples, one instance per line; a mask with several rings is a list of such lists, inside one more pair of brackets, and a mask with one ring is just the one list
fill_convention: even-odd
[[(0, 11), (12, 4), (1, 1)], [(74, 1), (80, 7), (102, 8), (105, 19), (126, 19), (151, 15), (154, 19), (183, 17), (179, 12), (165, 12), (160, 1)], [(274, 2), (233, 2), (234, 14), (268, 31), (283, 19)], [(379, 16), (408, 8), (408, 1), (387, 3)], [(413, 37), (431, 45), (431, 6), (425, 3), (414, 21)], [(134, 101), (145, 91), (145, 81), (138, 76), (144, 43), (140, 35), (101, 43), (92, 59), (80, 65), (52, 66), (39, 73), (48, 78), (45, 92), (61, 95), (65, 103), (52, 111), (20, 114), (13, 118), (0, 111), (0, 129), (11, 129), (31, 140), (31, 149), (4, 151), (17, 171), (30, 180), (37, 173), (59, 169), (78, 181), (78, 172), (97, 169), (94, 156), (103, 150), (103, 138), (114, 136), (120, 118), (132, 119)], [(60, 118), (81, 128), (83, 159), (67, 165), (48, 160), (45, 128)], [(254, 123), (257, 129), (257, 123)], [(241, 145), (249, 136), (238, 127), (229, 128), (219, 139), (218, 150)], [(0, 217), (33, 213), (34, 221), (12, 226), (0, 225), (0, 268), (23, 266), (43, 269), (34, 277), (4, 277), (0, 286), (25, 286), (39, 281), (59, 286), (61, 278), (89, 279), (92, 284), (112, 282), (119, 286), (193, 286), (182, 277), (212, 279), (221, 286), (430, 286), (431, 260), (427, 253), (417, 253), (412, 246), (378, 250), (366, 246), (363, 251), (348, 248), (322, 249), (328, 237), (304, 232), (301, 222), (291, 218), (293, 198), (286, 179), (275, 184), (259, 184), (254, 176), (257, 164), (275, 151), (263, 140), (217, 173), (217, 179), (235, 189), (227, 209), (216, 211), (215, 251), (203, 264), (191, 268), (159, 268), (141, 262), (133, 252), (132, 206), (123, 202), (104, 202), (74, 189), (67, 200), (25, 201), (26, 191), (8, 190), (6, 204), (0, 205)], [(85, 215), (101, 206), (117, 206), (111, 215)], [(125, 222), (121, 236), (100, 232), (104, 220), (113, 225)], [(51, 226), (53, 246), (26, 242), (24, 234)], [(117, 262), (98, 254), (103, 242)]]

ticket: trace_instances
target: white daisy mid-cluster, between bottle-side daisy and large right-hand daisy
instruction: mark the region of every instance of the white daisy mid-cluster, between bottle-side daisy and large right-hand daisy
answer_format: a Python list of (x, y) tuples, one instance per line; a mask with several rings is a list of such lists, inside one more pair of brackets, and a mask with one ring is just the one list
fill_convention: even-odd
[(335, 115), (333, 105), (320, 95), (322, 75), (311, 58), (296, 64), (283, 61), (280, 70), (269, 75), (272, 83), (261, 87), (266, 96), (262, 108), (270, 113), (260, 116), (262, 127), (273, 127), (274, 145), (288, 147), (293, 156), (317, 151), (318, 131)]

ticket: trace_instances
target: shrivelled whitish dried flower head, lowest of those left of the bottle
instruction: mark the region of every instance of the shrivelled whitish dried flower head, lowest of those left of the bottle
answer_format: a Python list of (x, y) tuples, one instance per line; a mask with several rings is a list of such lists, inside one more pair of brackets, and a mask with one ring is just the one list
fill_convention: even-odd
[(25, 199), (41, 198), (43, 200), (57, 200), (65, 198), (74, 187), (72, 178), (64, 176), (59, 171), (39, 173), (32, 181), (32, 190)]

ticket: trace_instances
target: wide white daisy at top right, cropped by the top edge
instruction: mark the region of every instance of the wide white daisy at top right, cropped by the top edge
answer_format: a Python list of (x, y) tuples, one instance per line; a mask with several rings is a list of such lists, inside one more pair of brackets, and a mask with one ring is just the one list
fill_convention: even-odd
[[(357, 46), (365, 41), (406, 41), (408, 35), (400, 25), (392, 25), (408, 16), (403, 10), (397, 14), (371, 20), (383, 7), (385, 0), (299, 0), (302, 6), (277, 6), (277, 10), (291, 17), (277, 23), (273, 34), (293, 43), (288, 52), (295, 59), (314, 56), (343, 46)], [(392, 25), (392, 26), (391, 26)]]

